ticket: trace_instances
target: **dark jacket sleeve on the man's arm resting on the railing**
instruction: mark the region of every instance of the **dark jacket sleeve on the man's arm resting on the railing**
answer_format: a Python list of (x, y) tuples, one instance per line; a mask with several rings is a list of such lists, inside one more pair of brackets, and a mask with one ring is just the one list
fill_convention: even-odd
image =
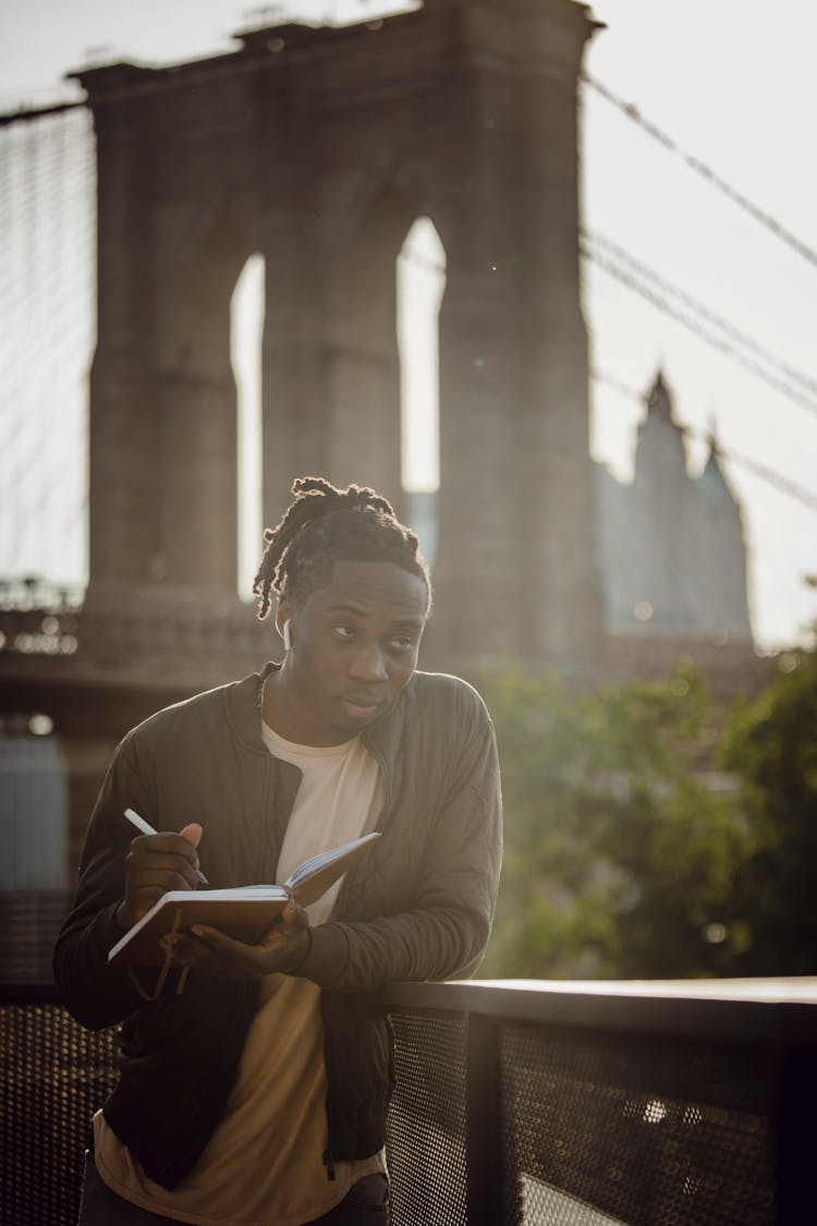
[(410, 910), (312, 929), (298, 975), (336, 991), (388, 982), (464, 978), (490, 935), (502, 817), (494, 727), (485, 709), (430, 828)]

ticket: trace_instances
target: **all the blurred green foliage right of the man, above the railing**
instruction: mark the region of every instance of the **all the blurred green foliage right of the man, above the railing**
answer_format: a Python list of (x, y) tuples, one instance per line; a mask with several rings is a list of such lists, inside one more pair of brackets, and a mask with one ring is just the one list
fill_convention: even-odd
[(483, 976), (817, 973), (817, 653), (783, 664), (729, 711), (690, 669), (483, 678), (506, 809)]

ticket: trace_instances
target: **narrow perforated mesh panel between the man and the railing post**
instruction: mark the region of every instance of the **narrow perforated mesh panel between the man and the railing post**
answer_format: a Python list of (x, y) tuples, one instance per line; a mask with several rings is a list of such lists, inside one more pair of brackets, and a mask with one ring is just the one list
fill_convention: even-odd
[(464, 1019), (418, 1011), (393, 1014), (392, 1022), (393, 1226), (467, 1226)]

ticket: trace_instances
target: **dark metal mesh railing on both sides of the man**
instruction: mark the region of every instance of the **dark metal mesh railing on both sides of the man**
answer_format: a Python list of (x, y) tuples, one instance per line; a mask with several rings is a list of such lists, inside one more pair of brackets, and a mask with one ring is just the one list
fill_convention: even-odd
[[(394, 1226), (813, 1220), (817, 981), (396, 984)], [(113, 1034), (2, 989), (0, 1220), (71, 1226)]]

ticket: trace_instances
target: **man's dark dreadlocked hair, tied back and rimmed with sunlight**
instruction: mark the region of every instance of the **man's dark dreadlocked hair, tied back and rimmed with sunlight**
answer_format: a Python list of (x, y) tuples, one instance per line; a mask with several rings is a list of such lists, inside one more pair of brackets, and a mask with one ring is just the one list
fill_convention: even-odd
[(431, 604), (419, 541), (391, 503), (366, 485), (337, 489), (323, 477), (299, 477), (292, 492), (280, 522), (263, 533), (267, 547), (252, 584), (258, 618), (266, 618), (273, 593), (303, 603), (329, 582), (336, 562), (393, 562), (424, 581)]

